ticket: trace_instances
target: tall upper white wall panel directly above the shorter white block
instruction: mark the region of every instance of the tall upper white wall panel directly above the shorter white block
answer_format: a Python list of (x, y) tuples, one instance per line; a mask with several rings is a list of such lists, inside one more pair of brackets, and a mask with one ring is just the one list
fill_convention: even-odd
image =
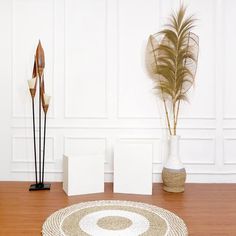
[[(65, 94), (65, 114), (64, 114), (64, 118), (65, 119), (70, 119), (70, 118), (76, 118), (76, 119), (107, 119), (107, 101), (108, 101), (108, 95), (107, 95), (107, 0), (102, 0), (97, 2), (96, 4), (93, 1), (87, 1), (88, 3), (86, 3), (86, 1), (68, 1), (65, 0), (65, 83), (64, 83), (64, 94)], [(85, 4), (86, 3), (86, 4)], [(69, 4), (74, 4), (74, 6), (71, 6), (71, 8), (68, 7)], [(104, 6), (102, 6), (104, 9), (100, 9), (101, 6), (98, 6), (99, 4), (103, 4)], [(86, 16), (86, 14), (83, 13), (83, 11), (81, 11), (81, 9), (84, 12), (89, 12), (91, 10), (91, 14), (100, 14), (97, 15), (97, 22), (93, 22), (88, 19), (88, 16)], [(77, 11), (76, 11), (77, 10)], [(70, 11), (69, 13), (67, 11)], [(74, 11), (74, 12), (73, 12)], [(80, 11), (80, 14), (78, 13), (78, 11)], [(73, 16), (71, 16), (73, 14)], [(73, 19), (72, 22), (70, 22), (70, 24), (68, 25), (68, 18), (73, 17), (75, 18), (76, 16), (78, 17), (78, 19)], [(83, 15), (85, 19), (82, 19), (80, 15)], [(95, 17), (95, 16), (94, 16)], [(99, 25), (100, 27), (103, 27), (102, 31), (97, 31), (96, 27), (94, 26), (98, 26), (98, 20), (100, 20), (100, 18), (103, 18), (103, 23), (101, 23), (101, 25)], [(77, 21), (76, 21), (77, 20)], [(69, 41), (69, 26), (71, 27), (71, 24), (75, 24), (75, 22), (78, 24), (78, 26), (75, 25), (74, 29), (72, 30), (72, 36), (75, 37), (76, 34), (74, 31), (76, 31), (79, 35), (79, 37), (77, 36), (78, 41), (76, 42), (76, 45), (74, 46), (74, 49), (71, 50), (70, 47), (72, 47), (71, 45), (71, 40), (70, 39), (70, 44), (68, 44)], [(85, 24), (89, 24), (89, 25), (85, 25)], [(82, 30), (81, 32), (78, 31), (77, 28), (81, 28), (80, 30)], [(101, 29), (100, 29), (101, 30)], [(84, 35), (88, 35), (87, 39), (84, 37)], [(99, 42), (100, 44), (98, 44), (97, 41), (99, 41), (99, 37), (97, 37), (96, 34), (100, 34), (100, 37), (103, 37), (103, 42)], [(80, 42), (80, 38), (81, 42)], [(83, 41), (84, 40), (84, 41)], [(89, 41), (90, 44), (88, 44), (86, 41)], [(86, 48), (82, 45), (85, 44), (87, 47), (87, 52), (85, 51)], [(77, 55), (72, 55), (74, 54), (74, 50), (77, 50), (77, 47), (80, 48), (81, 51), (78, 51)], [(97, 48), (96, 48), (97, 47)], [(100, 47), (102, 47), (100, 49)], [(70, 48), (70, 54), (67, 51), (68, 48)], [(90, 48), (93, 48), (93, 50), (91, 50)], [(96, 52), (96, 49), (99, 50), (99, 54), (98, 53), (94, 53)], [(103, 49), (103, 51), (102, 51)], [(80, 54), (81, 52), (83, 53), (83, 57), (84, 58), (80, 58)], [(87, 55), (88, 54), (88, 55)], [(102, 59), (100, 59), (100, 57), (103, 57)], [(94, 59), (95, 57), (95, 59)], [(70, 62), (68, 62), (68, 60), (70, 59)], [(79, 60), (80, 63), (82, 65), (77, 65), (76, 64), (76, 60)], [(99, 70), (99, 63), (103, 63), (102, 70)], [(69, 64), (73, 64), (73, 67), (69, 67)], [(87, 69), (87, 71), (85, 71), (85, 69), (83, 68), (85, 67), (85, 69)], [(78, 75), (78, 72), (82, 70), (82, 74), (80, 73)], [(72, 71), (72, 74), (68, 74), (69, 71)], [(77, 73), (74, 73), (74, 71), (76, 71)], [(96, 73), (100, 73), (99, 75), (97, 75)], [(102, 73), (102, 75), (101, 75)], [(91, 77), (92, 75), (92, 77)], [(70, 77), (75, 77), (78, 76), (77, 80), (80, 80), (79, 82), (76, 82), (75, 78), (74, 81), (74, 85), (73, 86), (69, 86), (69, 81), (71, 80)], [(100, 77), (100, 81), (96, 81), (96, 77)], [(104, 80), (101, 80), (102, 77), (104, 77)], [(83, 81), (82, 81), (83, 79)], [(92, 82), (88, 83), (86, 80), (91, 80)], [(103, 87), (100, 86), (101, 81), (104, 83)], [(83, 82), (83, 83), (82, 83)], [(96, 85), (92, 84), (92, 83), (96, 83)], [(71, 82), (70, 82), (71, 83)], [(78, 90), (75, 89), (75, 87), (78, 87)], [(81, 90), (80, 86), (83, 86), (84, 89)], [(100, 86), (100, 87), (98, 87)], [(104, 90), (102, 93), (98, 93), (99, 92), (99, 88), (100, 90)], [(96, 92), (98, 91), (95, 95), (92, 94), (92, 92)], [(86, 93), (89, 93), (90, 96), (87, 96)], [(81, 94), (81, 95), (80, 95)], [(69, 96), (72, 97), (70, 98)], [(79, 96), (81, 97), (79, 97)], [(96, 96), (93, 97), (93, 96)], [(97, 109), (96, 106), (96, 102), (99, 99), (99, 97), (104, 96), (104, 100), (103, 102), (100, 101), (100, 103), (97, 104), (97, 106), (100, 106), (101, 109), (103, 111), (99, 111), (97, 110), (97, 114), (95, 114), (95, 112), (93, 110)], [(91, 99), (90, 99), (91, 97)], [(76, 106), (76, 102), (75, 100), (77, 100), (78, 102), (78, 107), (79, 110), (77, 110), (77, 106)], [(87, 109), (85, 109), (86, 105), (85, 105), (85, 101), (87, 102)], [(89, 104), (88, 104), (89, 103)], [(103, 103), (103, 104), (101, 104)], [(71, 105), (72, 104), (72, 105)], [(95, 104), (95, 105), (93, 105)], [(70, 108), (68, 107), (70, 106)], [(93, 106), (93, 109), (90, 109), (90, 107)], [(90, 109), (90, 110), (89, 110)], [(76, 112), (75, 114), (72, 114), (73, 112)]]

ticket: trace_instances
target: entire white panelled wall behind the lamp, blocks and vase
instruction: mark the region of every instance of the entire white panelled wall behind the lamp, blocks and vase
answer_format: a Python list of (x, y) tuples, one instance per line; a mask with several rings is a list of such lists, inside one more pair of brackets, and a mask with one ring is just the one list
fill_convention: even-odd
[[(103, 155), (113, 180), (117, 140), (150, 144), (161, 181), (167, 140), (162, 104), (144, 65), (148, 36), (179, 0), (2, 0), (0, 180), (33, 180), (30, 95), (35, 48), (46, 56), (49, 109), (45, 178), (62, 180), (62, 157)], [(234, 0), (185, 0), (200, 37), (190, 104), (180, 110), (180, 156), (188, 182), (236, 182)], [(4, 22), (4, 24), (2, 23)], [(55, 106), (54, 106), (55, 105)], [(10, 109), (12, 108), (12, 109)], [(10, 111), (11, 110), (11, 111)], [(37, 124), (37, 123), (36, 123)], [(38, 124), (37, 124), (38, 125)]]

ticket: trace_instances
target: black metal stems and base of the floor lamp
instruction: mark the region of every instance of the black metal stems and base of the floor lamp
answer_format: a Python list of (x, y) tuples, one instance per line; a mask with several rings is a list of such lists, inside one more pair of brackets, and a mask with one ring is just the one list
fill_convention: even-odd
[(33, 112), (33, 135), (34, 135), (34, 162), (35, 162), (35, 184), (31, 184), (29, 191), (36, 190), (50, 190), (51, 184), (44, 183), (44, 164), (45, 164), (45, 139), (46, 139), (46, 112), (44, 113), (44, 136), (43, 136), (43, 161), (41, 158), (41, 76), (39, 76), (39, 180), (37, 169), (37, 151), (36, 151), (36, 137), (35, 137), (35, 112), (34, 99), (32, 98), (32, 112)]

